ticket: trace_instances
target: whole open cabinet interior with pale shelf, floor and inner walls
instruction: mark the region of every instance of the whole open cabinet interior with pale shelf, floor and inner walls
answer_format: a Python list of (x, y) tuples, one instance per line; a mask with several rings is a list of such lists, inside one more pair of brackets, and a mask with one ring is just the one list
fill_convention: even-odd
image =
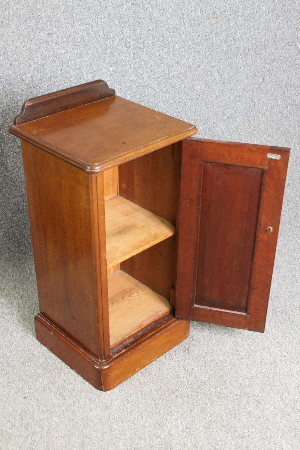
[(180, 145), (103, 172), (110, 347), (172, 311)]

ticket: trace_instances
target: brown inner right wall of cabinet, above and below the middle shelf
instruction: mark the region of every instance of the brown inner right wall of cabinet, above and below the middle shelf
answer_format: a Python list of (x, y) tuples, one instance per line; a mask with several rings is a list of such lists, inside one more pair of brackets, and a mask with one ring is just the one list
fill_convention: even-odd
[[(172, 144), (119, 166), (119, 193), (176, 224), (181, 143)], [(149, 247), (121, 263), (121, 270), (170, 300), (175, 284), (176, 238)]]

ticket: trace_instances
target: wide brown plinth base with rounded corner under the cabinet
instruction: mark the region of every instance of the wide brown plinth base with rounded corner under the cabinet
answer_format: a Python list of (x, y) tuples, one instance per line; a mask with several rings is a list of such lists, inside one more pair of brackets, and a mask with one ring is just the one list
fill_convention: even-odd
[(116, 387), (184, 341), (189, 334), (188, 320), (177, 320), (167, 315), (142, 330), (139, 338), (134, 339), (134, 342), (116, 347), (112, 358), (100, 361), (78, 346), (43, 315), (36, 315), (35, 325), (38, 340), (88, 383), (101, 391), (109, 391)]

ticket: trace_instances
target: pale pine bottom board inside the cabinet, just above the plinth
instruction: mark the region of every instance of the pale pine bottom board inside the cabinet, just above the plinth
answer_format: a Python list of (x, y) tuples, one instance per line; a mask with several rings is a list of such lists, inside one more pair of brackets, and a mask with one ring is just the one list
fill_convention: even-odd
[(122, 270), (108, 276), (108, 301), (111, 348), (172, 309), (165, 297)]

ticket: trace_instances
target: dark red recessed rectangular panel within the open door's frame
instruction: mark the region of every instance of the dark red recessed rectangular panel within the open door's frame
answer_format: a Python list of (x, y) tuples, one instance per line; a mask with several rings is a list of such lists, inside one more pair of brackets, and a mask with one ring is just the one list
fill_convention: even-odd
[(202, 164), (195, 304), (246, 312), (262, 169)]

